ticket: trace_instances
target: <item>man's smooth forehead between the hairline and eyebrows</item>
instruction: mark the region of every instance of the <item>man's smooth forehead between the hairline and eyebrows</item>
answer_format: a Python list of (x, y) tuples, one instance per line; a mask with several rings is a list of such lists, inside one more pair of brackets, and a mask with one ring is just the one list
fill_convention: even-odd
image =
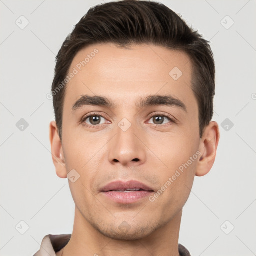
[(71, 72), (75, 75), (65, 93), (69, 109), (84, 94), (109, 97), (117, 104), (132, 104), (136, 98), (148, 95), (171, 94), (188, 105), (196, 104), (191, 90), (191, 61), (181, 51), (152, 44), (130, 48), (93, 44), (75, 55)]

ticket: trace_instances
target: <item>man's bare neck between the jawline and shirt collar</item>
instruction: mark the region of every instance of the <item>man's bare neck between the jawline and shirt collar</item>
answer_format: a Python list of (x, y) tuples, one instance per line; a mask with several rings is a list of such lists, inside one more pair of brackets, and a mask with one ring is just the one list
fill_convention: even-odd
[(75, 207), (74, 227), (68, 244), (57, 256), (178, 256), (178, 236), (182, 210), (168, 223), (147, 237), (137, 240), (114, 240), (96, 230)]

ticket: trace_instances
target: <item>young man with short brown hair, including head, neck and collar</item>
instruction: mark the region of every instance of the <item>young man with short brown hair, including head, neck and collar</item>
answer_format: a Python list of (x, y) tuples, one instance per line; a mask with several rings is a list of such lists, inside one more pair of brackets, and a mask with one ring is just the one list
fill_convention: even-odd
[(46, 235), (35, 255), (190, 255), (179, 228), (194, 176), (215, 160), (214, 79), (208, 42), (165, 5), (91, 8), (52, 83), (52, 159), (73, 232)]

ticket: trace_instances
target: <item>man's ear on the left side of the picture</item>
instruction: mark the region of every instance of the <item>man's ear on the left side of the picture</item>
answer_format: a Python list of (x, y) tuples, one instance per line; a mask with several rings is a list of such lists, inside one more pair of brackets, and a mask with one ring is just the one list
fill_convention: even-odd
[(60, 178), (66, 178), (66, 165), (64, 152), (62, 149), (62, 142), (58, 135), (58, 129), (55, 121), (50, 122), (50, 144), (51, 144), (51, 155), (55, 165), (56, 173)]

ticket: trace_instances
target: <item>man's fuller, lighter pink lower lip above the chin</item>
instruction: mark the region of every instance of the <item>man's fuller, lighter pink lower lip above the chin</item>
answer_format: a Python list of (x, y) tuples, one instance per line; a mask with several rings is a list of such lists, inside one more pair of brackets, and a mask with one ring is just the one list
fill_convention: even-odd
[(102, 192), (109, 199), (118, 203), (133, 203), (143, 198), (149, 197), (152, 191), (132, 191), (132, 192), (118, 192), (118, 191), (107, 191)]

